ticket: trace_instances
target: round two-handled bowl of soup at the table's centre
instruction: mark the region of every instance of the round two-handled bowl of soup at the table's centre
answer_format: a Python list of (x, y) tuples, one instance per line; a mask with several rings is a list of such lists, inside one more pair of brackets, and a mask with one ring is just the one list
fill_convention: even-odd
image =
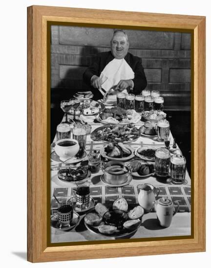
[(105, 164), (104, 177), (109, 184), (123, 184), (127, 182), (130, 170), (128, 166), (121, 161), (109, 161)]

